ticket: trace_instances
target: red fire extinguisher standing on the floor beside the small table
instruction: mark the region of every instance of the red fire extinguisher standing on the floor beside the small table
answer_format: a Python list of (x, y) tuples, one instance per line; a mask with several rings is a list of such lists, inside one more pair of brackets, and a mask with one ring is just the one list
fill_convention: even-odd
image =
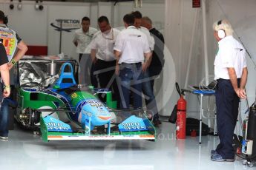
[(180, 87), (176, 84), (180, 99), (177, 101), (176, 138), (186, 139), (186, 105), (187, 102), (180, 92)]

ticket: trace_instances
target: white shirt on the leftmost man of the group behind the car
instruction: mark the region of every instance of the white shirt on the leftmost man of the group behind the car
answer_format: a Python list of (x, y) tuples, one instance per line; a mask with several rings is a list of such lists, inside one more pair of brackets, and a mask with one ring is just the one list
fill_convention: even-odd
[(77, 53), (79, 53), (79, 54), (90, 54), (91, 53), (91, 49), (88, 47), (88, 45), (91, 43), (93, 35), (97, 31), (98, 30), (93, 27), (89, 27), (89, 30), (86, 33), (84, 33), (82, 28), (79, 28), (78, 30), (75, 31), (75, 34), (73, 37), (73, 42), (77, 41), (77, 47), (76, 47)]

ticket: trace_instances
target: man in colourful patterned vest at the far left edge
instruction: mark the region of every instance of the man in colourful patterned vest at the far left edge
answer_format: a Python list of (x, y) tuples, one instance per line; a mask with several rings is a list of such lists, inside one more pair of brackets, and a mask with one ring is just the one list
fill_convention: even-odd
[[(22, 58), (25, 52), (27, 52), (27, 45), (24, 43), (24, 41), (22, 41), (22, 38), (20, 38), (14, 30), (11, 30), (7, 27), (7, 23), (7, 16), (5, 16), (4, 12), (0, 10), (0, 39), (7, 52), (7, 57), (9, 60), (7, 67), (10, 70), (13, 68), (16, 62)], [(4, 77), (2, 77), (2, 79), (4, 81)], [(12, 79), (10, 80), (10, 84), (14, 84)], [(6, 86), (5, 89), (10, 89), (10, 86), (8, 87), (5, 82), (4, 85)], [(8, 139), (8, 114), (8, 99), (4, 98), (0, 111), (0, 138), (4, 140)]]

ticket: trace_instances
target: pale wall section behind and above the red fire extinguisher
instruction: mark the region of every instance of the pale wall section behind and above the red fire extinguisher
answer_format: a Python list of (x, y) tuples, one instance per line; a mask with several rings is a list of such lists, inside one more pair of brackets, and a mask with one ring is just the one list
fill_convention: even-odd
[[(174, 80), (171, 80), (171, 86), (168, 87), (172, 91), (171, 96), (163, 97), (168, 99), (168, 104), (165, 106), (163, 115), (170, 115), (174, 105), (177, 103), (179, 96), (174, 89), (175, 81), (180, 84), (180, 88), (184, 88), (186, 81), (186, 72), (189, 71), (188, 85), (197, 85), (200, 79), (204, 76), (204, 60), (202, 57), (202, 28), (201, 28), (201, 11), (197, 8), (191, 8), (191, 1), (187, 0), (172, 0), (165, 1), (165, 40), (166, 47), (171, 52), (171, 55), (165, 58), (172, 57), (174, 60), (176, 72)], [(192, 30), (195, 23), (194, 42), (191, 46)], [(192, 48), (191, 67), (188, 69), (188, 56)], [(168, 63), (169, 65), (171, 63)], [(165, 69), (167, 69), (165, 65)], [(171, 77), (171, 72), (164, 70), (165, 81)], [(164, 84), (163, 84), (164, 86)], [(195, 95), (186, 95), (188, 112), (198, 110), (198, 101)], [(188, 116), (197, 117), (194, 113), (188, 113)]]

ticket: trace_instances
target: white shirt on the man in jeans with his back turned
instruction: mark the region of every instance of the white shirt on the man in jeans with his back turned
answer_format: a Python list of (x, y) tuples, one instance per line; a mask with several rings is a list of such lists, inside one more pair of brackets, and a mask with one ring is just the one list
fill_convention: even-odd
[(146, 35), (134, 26), (119, 33), (114, 50), (121, 52), (119, 64), (143, 62), (144, 54), (151, 52)]

